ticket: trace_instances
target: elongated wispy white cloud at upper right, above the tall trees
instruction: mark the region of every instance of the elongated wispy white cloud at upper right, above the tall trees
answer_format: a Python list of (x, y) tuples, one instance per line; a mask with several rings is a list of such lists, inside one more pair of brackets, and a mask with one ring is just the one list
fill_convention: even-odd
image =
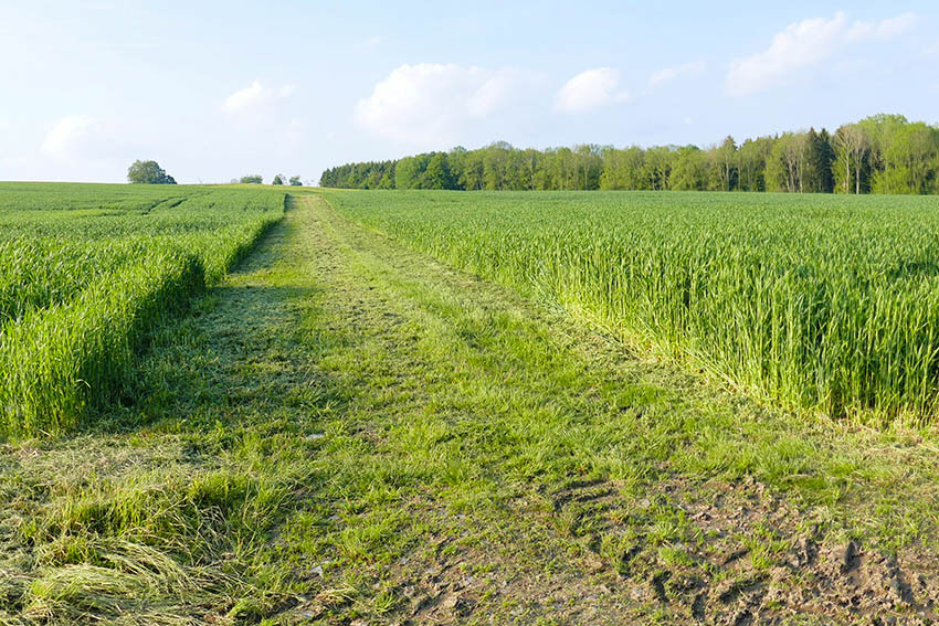
[(848, 23), (847, 15), (838, 11), (832, 19), (815, 18), (789, 24), (776, 34), (767, 50), (730, 64), (725, 91), (730, 95), (763, 91), (852, 44), (893, 39), (908, 31), (915, 22), (916, 15), (903, 13), (875, 23)]

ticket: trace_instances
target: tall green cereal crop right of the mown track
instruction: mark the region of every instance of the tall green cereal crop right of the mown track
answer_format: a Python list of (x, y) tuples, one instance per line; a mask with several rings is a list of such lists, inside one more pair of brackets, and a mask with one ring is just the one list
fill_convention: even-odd
[(341, 192), (341, 212), (790, 407), (931, 423), (939, 200)]

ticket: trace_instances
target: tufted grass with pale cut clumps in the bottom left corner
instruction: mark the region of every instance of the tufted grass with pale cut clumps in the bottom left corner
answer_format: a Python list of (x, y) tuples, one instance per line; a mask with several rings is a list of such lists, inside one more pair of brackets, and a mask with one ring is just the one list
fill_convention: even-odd
[[(27, 505), (21, 489), (0, 520), (0, 624), (202, 624), (210, 607), (238, 604), (270, 613), (283, 596), (247, 581), (309, 466), (272, 455), (249, 467), (236, 457), (250, 437), (233, 431), (245, 435), (234, 454), (211, 461), (159, 437), (130, 449), (83, 437), (24, 459), (23, 484), (42, 482), (44, 501)], [(89, 470), (88, 456), (107, 461)]]

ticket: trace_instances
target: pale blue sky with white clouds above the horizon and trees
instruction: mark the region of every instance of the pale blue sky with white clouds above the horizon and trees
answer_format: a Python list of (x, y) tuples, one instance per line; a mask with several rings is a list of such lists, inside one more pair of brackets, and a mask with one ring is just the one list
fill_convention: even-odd
[(939, 4), (0, 0), (0, 180), (939, 123)]

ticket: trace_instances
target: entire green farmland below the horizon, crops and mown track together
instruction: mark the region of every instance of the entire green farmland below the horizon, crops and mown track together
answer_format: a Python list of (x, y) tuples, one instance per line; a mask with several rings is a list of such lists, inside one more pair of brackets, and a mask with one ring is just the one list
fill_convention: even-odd
[(937, 209), (0, 184), (0, 625), (936, 623)]

